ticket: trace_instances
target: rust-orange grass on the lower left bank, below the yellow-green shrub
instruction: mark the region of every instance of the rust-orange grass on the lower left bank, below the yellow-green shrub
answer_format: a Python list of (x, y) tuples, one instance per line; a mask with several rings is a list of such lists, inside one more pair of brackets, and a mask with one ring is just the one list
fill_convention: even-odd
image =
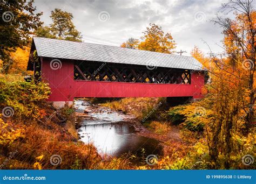
[[(2, 168), (31, 169), (37, 162), (36, 158), (42, 155), (40, 165), (43, 169), (71, 169), (77, 160), (80, 160), (79, 167), (82, 169), (95, 168), (101, 158), (93, 145), (77, 140), (72, 116), (66, 122), (59, 123), (59, 120), (64, 118), (62, 112), (54, 113), (53, 109), (46, 107), (45, 110), (47, 115), (39, 121), (16, 122), (12, 119), (8, 122), (6, 131), (19, 129), (23, 131), (22, 136), (15, 138), (12, 143), (1, 146), (1, 161), (8, 158), (10, 152), (17, 151), (14, 159), (8, 161)], [(52, 165), (50, 162), (52, 155), (59, 155), (62, 158), (61, 164)]]

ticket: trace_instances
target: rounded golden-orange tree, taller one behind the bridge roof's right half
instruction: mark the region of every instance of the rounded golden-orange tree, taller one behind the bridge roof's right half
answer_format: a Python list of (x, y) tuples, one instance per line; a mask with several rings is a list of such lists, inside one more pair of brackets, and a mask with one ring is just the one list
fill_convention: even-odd
[(161, 26), (150, 23), (150, 27), (147, 27), (143, 33), (144, 36), (141, 37), (143, 41), (138, 45), (138, 49), (168, 54), (174, 52), (176, 43), (171, 33), (165, 34)]

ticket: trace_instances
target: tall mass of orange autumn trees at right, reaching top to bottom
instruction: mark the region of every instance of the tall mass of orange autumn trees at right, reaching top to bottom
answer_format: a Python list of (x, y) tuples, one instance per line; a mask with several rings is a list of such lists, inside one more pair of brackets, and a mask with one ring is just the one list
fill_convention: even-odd
[(214, 121), (206, 126), (207, 142), (217, 168), (231, 167), (232, 158), (244, 151), (239, 141), (253, 131), (256, 25), (252, 2), (232, 0), (223, 4), (221, 10), (233, 12), (235, 19), (214, 20), (223, 28), (227, 53), (223, 59), (212, 53), (213, 77), (208, 87)]

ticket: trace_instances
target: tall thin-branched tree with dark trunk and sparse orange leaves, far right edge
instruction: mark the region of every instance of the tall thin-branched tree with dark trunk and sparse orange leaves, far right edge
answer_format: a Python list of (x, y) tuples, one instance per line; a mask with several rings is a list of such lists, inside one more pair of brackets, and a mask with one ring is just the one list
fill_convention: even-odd
[[(255, 48), (256, 48), (256, 12), (253, 0), (230, 1), (223, 5), (223, 10), (233, 11), (236, 18), (218, 17), (215, 23), (224, 29), (224, 45), (230, 55), (233, 70), (243, 73), (243, 80), (247, 83), (248, 102), (245, 102), (247, 129), (254, 122), (254, 73), (255, 73)], [(235, 67), (235, 69), (234, 69)]]

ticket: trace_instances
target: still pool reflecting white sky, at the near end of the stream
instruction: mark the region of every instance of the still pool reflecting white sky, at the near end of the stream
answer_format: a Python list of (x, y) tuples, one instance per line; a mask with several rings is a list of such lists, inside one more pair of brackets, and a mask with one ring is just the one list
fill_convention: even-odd
[(155, 139), (138, 136), (134, 128), (127, 123), (107, 123), (83, 125), (79, 129), (84, 143), (93, 143), (99, 154), (119, 156), (123, 153), (158, 154), (160, 147)]

